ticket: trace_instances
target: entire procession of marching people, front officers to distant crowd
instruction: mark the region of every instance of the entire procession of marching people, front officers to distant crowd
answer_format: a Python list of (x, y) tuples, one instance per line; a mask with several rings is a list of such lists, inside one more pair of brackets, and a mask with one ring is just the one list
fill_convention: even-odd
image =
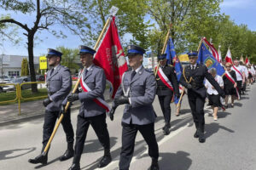
[[(122, 75), (121, 85), (114, 96), (112, 107), (104, 100), (106, 88), (106, 76), (103, 69), (94, 65), (93, 56), (96, 51), (86, 46), (79, 47), (79, 57), (84, 70), (79, 75), (79, 88), (70, 94), (72, 79), (67, 67), (61, 65), (61, 52), (49, 49), (47, 58), (52, 67), (47, 72), (46, 82), (48, 98), (44, 99), (44, 131), (43, 148), (39, 156), (29, 159), (32, 164), (48, 163), (49, 139), (54, 131), (55, 122), (64, 117), (61, 124), (67, 137), (67, 150), (60, 157), (60, 161), (66, 161), (73, 157), (73, 163), (69, 170), (79, 170), (81, 155), (84, 150), (84, 142), (88, 128), (91, 126), (102, 144), (104, 154), (98, 163), (98, 167), (106, 167), (112, 161), (110, 151), (110, 138), (106, 122), (106, 112), (113, 121), (114, 113), (119, 105), (125, 105), (122, 118), (122, 141), (119, 158), (119, 169), (128, 170), (135, 148), (137, 132), (142, 133), (143, 139), (148, 144), (148, 155), (152, 159), (150, 170), (160, 169), (158, 164), (159, 146), (155, 138), (154, 122), (156, 111), (153, 102), (158, 95), (160, 108), (164, 115), (165, 135), (170, 133), (171, 128), (171, 102), (177, 105), (176, 116), (179, 116), (181, 97), (186, 90), (189, 106), (195, 122), (195, 139), (200, 143), (206, 141), (204, 105), (206, 98), (212, 106), (213, 118), (218, 119), (218, 108), (228, 108), (229, 96), (231, 96), (231, 107), (234, 100), (240, 99), (247, 85), (255, 80), (254, 65), (240, 65), (236, 59), (234, 65), (224, 63), (225, 74), (223, 77), (217, 75), (215, 69), (208, 71), (206, 65), (198, 64), (197, 51), (189, 52), (190, 65), (184, 67), (180, 82), (172, 65), (167, 65), (166, 54), (159, 56), (159, 65), (155, 71), (148, 71), (143, 67), (143, 54), (145, 50), (136, 45), (130, 45), (127, 56), (131, 70)], [(221, 102), (225, 99), (225, 104)], [(70, 118), (70, 108), (67, 102), (79, 100), (81, 103), (77, 121), (76, 137), (74, 139), (73, 125)], [(157, 111), (159, 115), (160, 111)], [(64, 116), (63, 116), (64, 115)], [(73, 146), (73, 144), (75, 145)], [(86, 147), (86, 145), (85, 145)]]

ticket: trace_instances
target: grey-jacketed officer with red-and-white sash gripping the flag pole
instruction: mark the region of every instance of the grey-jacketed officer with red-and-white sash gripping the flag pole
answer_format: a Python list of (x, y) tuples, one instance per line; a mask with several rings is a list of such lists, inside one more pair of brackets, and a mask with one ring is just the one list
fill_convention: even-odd
[(112, 161), (110, 156), (110, 139), (106, 123), (106, 109), (98, 102), (105, 104), (103, 93), (106, 88), (106, 76), (102, 68), (93, 64), (93, 55), (96, 51), (86, 46), (80, 46), (80, 61), (84, 66), (81, 74), (79, 93), (67, 96), (67, 101), (73, 102), (80, 100), (81, 107), (78, 115), (75, 154), (73, 165), (69, 170), (80, 169), (80, 158), (84, 150), (84, 141), (89, 126), (91, 125), (96, 132), (104, 148), (104, 156), (99, 162), (98, 167), (106, 167)]

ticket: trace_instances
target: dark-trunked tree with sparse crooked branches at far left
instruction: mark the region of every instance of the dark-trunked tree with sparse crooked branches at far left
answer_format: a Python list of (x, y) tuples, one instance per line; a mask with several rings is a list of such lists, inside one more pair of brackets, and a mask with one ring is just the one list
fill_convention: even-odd
[[(8, 24), (12, 26), (19, 26), (24, 32), (23, 35), (27, 39), (27, 51), (29, 59), (29, 68), (32, 77), (32, 82), (36, 82), (36, 74), (33, 61), (33, 47), (34, 39), (37, 32), (47, 30), (57, 37), (65, 37), (65, 35), (59, 31), (55, 31), (54, 26), (62, 25), (73, 31), (74, 33), (79, 33), (80, 29), (84, 26), (86, 18), (84, 18), (84, 13), (79, 11), (80, 3), (79, 1), (18, 1), (18, 0), (2, 0), (0, 2), (1, 10), (13, 11), (15, 13), (27, 14), (35, 16), (35, 20), (32, 27), (29, 27), (29, 23), (22, 23), (21, 21), (15, 20), (11, 17), (3, 18), (0, 20), (0, 26), (4, 27)], [(3, 32), (3, 29), (1, 28)], [(32, 92), (37, 92), (37, 86), (32, 85)]]

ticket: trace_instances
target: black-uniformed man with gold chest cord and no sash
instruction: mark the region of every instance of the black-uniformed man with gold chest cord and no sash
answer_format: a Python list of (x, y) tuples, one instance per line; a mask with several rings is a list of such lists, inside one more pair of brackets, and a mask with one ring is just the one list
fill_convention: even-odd
[(212, 75), (207, 71), (206, 65), (196, 63), (197, 52), (189, 52), (190, 65), (183, 69), (183, 76), (180, 79), (181, 84), (188, 88), (189, 106), (192, 111), (192, 116), (195, 122), (195, 138), (199, 138), (199, 142), (205, 142), (205, 117), (204, 104), (207, 97), (207, 89), (204, 86), (204, 79), (212, 84), (218, 91), (218, 94), (224, 98), (224, 90), (219, 87), (218, 82), (214, 80)]

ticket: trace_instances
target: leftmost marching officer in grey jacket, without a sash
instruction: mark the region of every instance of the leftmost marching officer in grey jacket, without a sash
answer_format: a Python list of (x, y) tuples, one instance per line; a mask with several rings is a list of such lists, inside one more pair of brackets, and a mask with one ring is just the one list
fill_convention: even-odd
[[(43, 149), (48, 143), (49, 137), (55, 127), (56, 119), (64, 110), (64, 99), (70, 93), (72, 88), (72, 79), (70, 71), (66, 66), (61, 65), (61, 52), (55, 49), (48, 49), (47, 59), (49, 66), (53, 68), (47, 72), (46, 82), (48, 88), (48, 98), (44, 99), (43, 105), (46, 107), (44, 115)], [(70, 109), (67, 110), (61, 122), (67, 138), (67, 150), (60, 161), (65, 161), (73, 157), (73, 127), (70, 120)], [(47, 164), (48, 153), (43, 156), (40, 154), (34, 159), (28, 160), (30, 163)]]

